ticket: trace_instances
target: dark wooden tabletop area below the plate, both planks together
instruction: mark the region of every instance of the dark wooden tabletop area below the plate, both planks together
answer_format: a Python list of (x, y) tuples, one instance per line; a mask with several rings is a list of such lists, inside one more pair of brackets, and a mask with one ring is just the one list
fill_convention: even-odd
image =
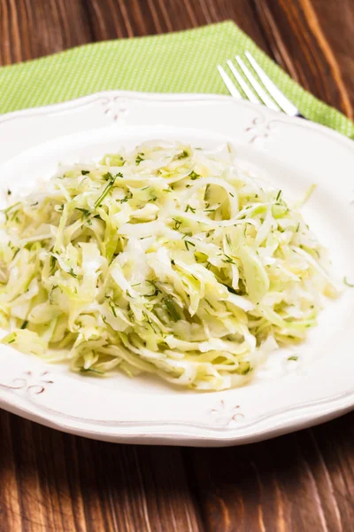
[(0, 530), (350, 530), (354, 415), (240, 448), (91, 442), (0, 415)]

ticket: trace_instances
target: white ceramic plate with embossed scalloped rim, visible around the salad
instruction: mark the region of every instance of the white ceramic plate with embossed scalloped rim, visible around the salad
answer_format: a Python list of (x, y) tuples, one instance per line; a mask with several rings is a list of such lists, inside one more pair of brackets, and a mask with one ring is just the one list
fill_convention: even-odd
[[(0, 117), (0, 189), (26, 191), (59, 161), (148, 138), (238, 145), (285, 197), (319, 186), (304, 216), (354, 282), (354, 145), (332, 130), (209, 95), (103, 92)], [(343, 286), (343, 288), (345, 288)], [(219, 446), (255, 442), (334, 418), (354, 405), (354, 289), (330, 302), (300, 348), (271, 356), (250, 385), (200, 394), (156, 379), (94, 379), (0, 347), (0, 406), (73, 434), (112, 442)]]

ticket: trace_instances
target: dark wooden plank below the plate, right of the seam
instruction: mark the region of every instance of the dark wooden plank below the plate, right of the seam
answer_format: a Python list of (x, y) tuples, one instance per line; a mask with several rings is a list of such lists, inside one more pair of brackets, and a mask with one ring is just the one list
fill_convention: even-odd
[(342, 532), (354, 522), (354, 415), (226, 450), (185, 450), (210, 532)]

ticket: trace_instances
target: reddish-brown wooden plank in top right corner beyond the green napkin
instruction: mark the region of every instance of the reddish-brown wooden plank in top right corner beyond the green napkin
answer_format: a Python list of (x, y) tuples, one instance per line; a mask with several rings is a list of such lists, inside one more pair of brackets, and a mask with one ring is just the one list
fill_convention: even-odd
[(255, 0), (273, 54), (315, 96), (353, 117), (351, 51), (354, 7), (350, 0)]

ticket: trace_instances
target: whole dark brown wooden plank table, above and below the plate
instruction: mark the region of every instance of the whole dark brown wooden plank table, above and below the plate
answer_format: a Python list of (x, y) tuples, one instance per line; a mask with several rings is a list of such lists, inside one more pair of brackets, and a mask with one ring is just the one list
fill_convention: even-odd
[[(353, 0), (0, 0), (0, 64), (226, 19), (353, 117)], [(208, 450), (91, 442), (2, 411), (0, 532), (349, 532), (353, 422)]]

